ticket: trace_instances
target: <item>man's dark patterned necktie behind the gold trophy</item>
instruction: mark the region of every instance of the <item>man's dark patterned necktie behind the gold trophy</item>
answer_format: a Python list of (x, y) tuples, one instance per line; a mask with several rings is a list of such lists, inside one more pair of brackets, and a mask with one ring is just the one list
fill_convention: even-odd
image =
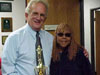
[[(39, 37), (39, 32), (37, 31), (36, 32), (36, 50), (37, 50), (38, 46), (40, 46), (40, 48), (42, 49), (41, 39)], [(43, 65), (44, 65), (43, 51), (41, 51), (41, 59), (42, 59)], [(37, 51), (36, 51), (36, 64), (38, 65)]]

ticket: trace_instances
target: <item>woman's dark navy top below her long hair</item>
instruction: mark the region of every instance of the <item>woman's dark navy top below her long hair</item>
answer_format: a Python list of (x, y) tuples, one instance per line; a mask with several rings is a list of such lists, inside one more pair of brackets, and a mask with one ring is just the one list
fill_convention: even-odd
[(78, 51), (74, 60), (69, 60), (67, 52), (64, 51), (60, 61), (51, 60), (50, 75), (94, 75), (94, 71), (83, 50)]

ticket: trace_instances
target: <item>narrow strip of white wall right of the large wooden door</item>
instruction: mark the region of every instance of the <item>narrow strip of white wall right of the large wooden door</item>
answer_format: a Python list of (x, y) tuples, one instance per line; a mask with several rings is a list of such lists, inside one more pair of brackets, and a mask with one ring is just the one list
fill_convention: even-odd
[(91, 40), (90, 40), (90, 9), (100, 7), (100, 0), (84, 0), (84, 31), (85, 31), (85, 48), (89, 52), (91, 59)]

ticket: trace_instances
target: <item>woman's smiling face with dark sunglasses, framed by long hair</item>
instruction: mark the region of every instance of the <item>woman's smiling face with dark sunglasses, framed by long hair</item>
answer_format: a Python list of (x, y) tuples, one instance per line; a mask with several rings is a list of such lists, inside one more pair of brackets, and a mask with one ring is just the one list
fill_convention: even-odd
[(57, 43), (62, 48), (67, 47), (71, 42), (71, 33), (70, 31), (58, 32), (57, 33)]

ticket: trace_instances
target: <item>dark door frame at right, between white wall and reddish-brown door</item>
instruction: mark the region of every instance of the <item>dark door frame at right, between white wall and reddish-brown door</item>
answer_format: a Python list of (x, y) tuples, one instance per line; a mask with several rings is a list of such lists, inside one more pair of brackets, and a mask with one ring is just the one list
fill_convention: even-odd
[(95, 21), (95, 13), (94, 11), (100, 9), (100, 7), (97, 7), (97, 8), (93, 8), (93, 9), (90, 9), (90, 29), (91, 29), (91, 64), (93, 66), (93, 68), (95, 69), (95, 53), (94, 53), (94, 50), (95, 50), (95, 47), (94, 47), (94, 21)]

